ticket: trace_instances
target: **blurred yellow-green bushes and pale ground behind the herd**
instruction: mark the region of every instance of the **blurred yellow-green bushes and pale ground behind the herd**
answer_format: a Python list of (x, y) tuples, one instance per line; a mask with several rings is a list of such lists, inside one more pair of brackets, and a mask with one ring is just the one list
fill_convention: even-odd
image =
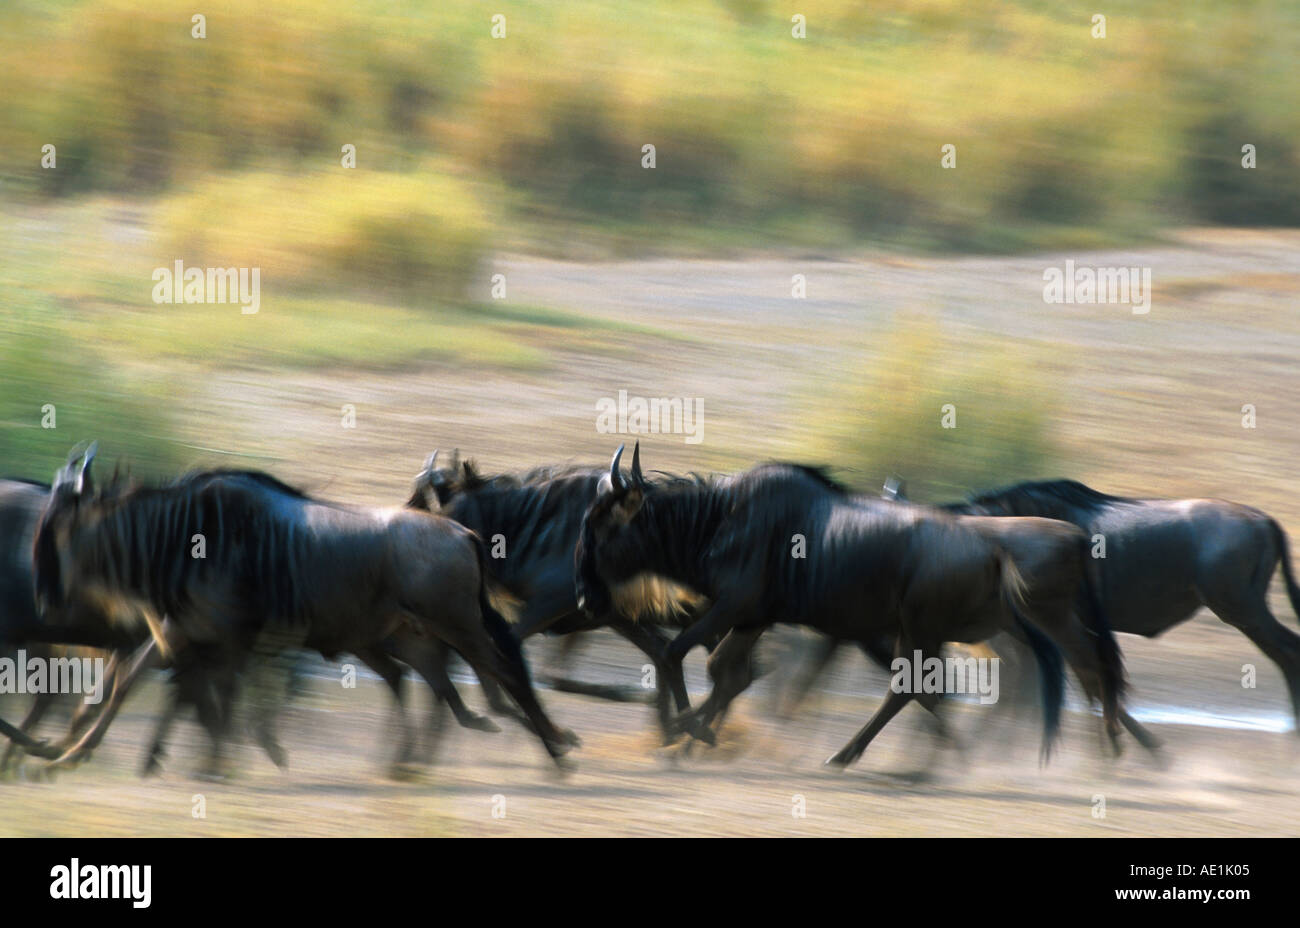
[[(396, 504), (436, 447), (604, 461), (627, 390), (702, 402), (647, 468), (798, 459), (928, 500), (1070, 476), (1300, 533), (1300, 5), (200, 6), (0, 6), (0, 473), (98, 438)], [(155, 303), (178, 260), (260, 269), (259, 312)], [(1045, 303), (1066, 260), (1149, 268), (1150, 312)], [(1291, 727), (1212, 616), (1122, 645), (1152, 704)], [(1278, 827), (1232, 811), (1192, 831)]]

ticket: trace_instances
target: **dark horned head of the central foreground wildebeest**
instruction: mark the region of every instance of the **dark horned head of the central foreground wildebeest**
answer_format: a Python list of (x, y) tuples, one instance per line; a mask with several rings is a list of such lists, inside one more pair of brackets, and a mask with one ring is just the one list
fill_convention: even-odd
[(577, 604), (598, 616), (612, 606), (610, 586), (640, 569), (637, 515), (645, 503), (646, 482), (641, 473), (641, 443), (632, 451), (632, 480), (619, 469), (624, 446), (614, 452), (610, 473), (601, 480), (595, 499), (582, 517), (576, 559)]

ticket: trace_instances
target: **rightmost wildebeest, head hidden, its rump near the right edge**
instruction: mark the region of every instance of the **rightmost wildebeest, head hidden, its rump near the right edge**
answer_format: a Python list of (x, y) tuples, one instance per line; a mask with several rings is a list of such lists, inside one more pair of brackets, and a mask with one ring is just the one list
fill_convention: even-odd
[(1072, 480), (1017, 483), (940, 508), (1061, 519), (1100, 535), (1098, 594), (1115, 632), (1154, 638), (1204, 606), (1277, 663), (1300, 721), (1300, 636), (1268, 603), (1278, 564), (1296, 616), (1300, 585), (1286, 532), (1268, 513), (1222, 499), (1112, 496)]

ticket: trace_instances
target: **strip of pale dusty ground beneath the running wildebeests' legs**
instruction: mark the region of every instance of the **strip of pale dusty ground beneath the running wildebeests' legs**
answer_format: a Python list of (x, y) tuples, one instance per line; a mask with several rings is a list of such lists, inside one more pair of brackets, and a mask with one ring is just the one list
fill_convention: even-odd
[[(1188, 642), (1221, 637), (1216, 629), (1190, 632), (1174, 634)], [(1136, 686), (1169, 685), (1193, 699), (1231, 697), (1217, 681), (1205, 684), (1209, 693), (1192, 682), (1205, 678), (1193, 671), (1212, 662), (1201, 658), (1188, 667), (1141, 655), (1152, 649), (1130, 649)], [(621, 642), (602, 639), (582, 665), (634, 678), (640, 660)], [(1173, 672), (1182, 678), (1166, 677)], [(448, 728), (439, 763), (413, 782), (385, 777), (386, 693), (370, 681), (343, 690), (328, 678), (316, 680), (283, 717), (290, 769), (280, 772), (243, 746), (234, 779), (199, 780), (192, 772), (203, 736), (186, 724), (177, 728), (165, 775), (139, 780), (155, 685), (129, 703), (88, 766), (53, 782), (0, 784), (0, 834), (1300, 833), (1300, 740), (1294, 733), (1157, 725), (1169, 755), (1162, 768), (1131, 741), (1119, 759), (1101, 754), (1097, 720), (1070, 712), (1061, 753), (1040, 768), (1036, 712), (1018, 717), (957, 707), (965, 746), (936, 753), (924, 714), (910, 708), (857, 767), (838, 773), (822, 760), (866, 720), (884, 677), (845, 655), (831, 689), (855, 686), (864, 695), (823, 697), (789, 723), (768, 715), (775, 678), (744, 698), (718, 749), (689, 756), (664, 751), (650, 734), (649, 707), (547, 693), (555, 719), (584, 738), (572, 772), (558, 773), (541, 746), (507, 721), (498, 734)], [(477, 688), (465, 693), (481, 701)], [(1256, 693), (1258, 706), (1282, 708), (1275, 689), (1261, 685)], [(422, 693), (417, 706), (422, 717)], [(913, 779), (920, 772), (930, 779)], [(194, 818), (199, 797), (202, 819)], [(502, 797), (504, 818), (494, 818)], [(1098, 797), (1104, 818), (1095, 816)], [(800, 798), (806, 818), (793, 815)]]

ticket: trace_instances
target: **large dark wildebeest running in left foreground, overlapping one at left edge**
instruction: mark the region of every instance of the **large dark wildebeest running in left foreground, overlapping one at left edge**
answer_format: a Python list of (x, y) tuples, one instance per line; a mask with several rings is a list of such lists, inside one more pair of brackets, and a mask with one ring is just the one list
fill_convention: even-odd
[[(498, 681), (556, 762), (567, 751), (537, 702), (517, 641), (488, 602), (485, 552), (468, 529), (410, 509), (328, 503), (247, 470), (91, 490), (87, 467), (83, 459), (60, 470), (38, 526), (43, 610), (57, 612), (69, 600), (129, 604), (148, 621), (151, 646), (207, 649), (220, 668), (238, 668), (265, 629), (299, 629), (304, 647), (391, 664), (398, 680), (400, 668), (381, 642), (408, 626)], [(133, 660), (127, 681), (138, 671)], [(394, 693), (402, 764), (412, 729)], [(116, 704), (114, 689), (96, 729)]]

